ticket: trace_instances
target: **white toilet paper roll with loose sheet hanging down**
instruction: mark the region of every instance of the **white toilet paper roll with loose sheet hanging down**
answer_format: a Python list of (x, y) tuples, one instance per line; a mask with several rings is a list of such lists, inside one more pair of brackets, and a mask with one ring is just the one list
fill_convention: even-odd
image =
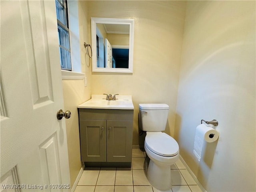
[(210, 126), (207, 126), (206, 124), (200, 124), (196, 127), (193, 153), (198, 161), (200, 161), (201, 159), (204, 140), (211, 143), (216, 141), (218, 137), (219, 133)]

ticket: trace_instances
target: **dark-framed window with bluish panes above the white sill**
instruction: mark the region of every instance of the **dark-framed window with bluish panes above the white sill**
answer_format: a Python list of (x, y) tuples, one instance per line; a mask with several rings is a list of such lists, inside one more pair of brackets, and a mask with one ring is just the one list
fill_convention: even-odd
[(72, 70), (70, 39), (68, 26), (68, 4), (67, 0), (55, 0), (58, 21), (60, 65), (63, 70)]

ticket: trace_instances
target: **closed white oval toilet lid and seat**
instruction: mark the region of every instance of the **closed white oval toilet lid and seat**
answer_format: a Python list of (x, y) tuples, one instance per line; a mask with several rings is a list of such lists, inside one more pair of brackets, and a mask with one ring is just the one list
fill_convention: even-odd
[(163, 132), (147, 132), (145, 145), (150, 151), (160, 156), (172, 157), (179, 153), (176, 140)]

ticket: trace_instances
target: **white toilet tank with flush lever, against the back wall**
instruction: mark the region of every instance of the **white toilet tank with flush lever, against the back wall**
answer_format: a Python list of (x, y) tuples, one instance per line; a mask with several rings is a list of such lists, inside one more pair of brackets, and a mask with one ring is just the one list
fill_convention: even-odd
[(164, 131), (168, 118), (167, 104), (139, 104), (140, 129), (143, 131)]

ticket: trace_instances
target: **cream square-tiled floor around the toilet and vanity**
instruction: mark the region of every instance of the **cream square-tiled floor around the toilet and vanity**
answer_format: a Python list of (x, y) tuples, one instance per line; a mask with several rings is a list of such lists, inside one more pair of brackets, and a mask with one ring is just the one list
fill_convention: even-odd
[[(132, 149), (130, 168), (86, 168), (75, 192), (160, 192), (146, 177), (149, 158), (146, 152)], [(172, 189), (166, 192), (202, 192), (184, 164), (178, 160), (171, 166)]]

